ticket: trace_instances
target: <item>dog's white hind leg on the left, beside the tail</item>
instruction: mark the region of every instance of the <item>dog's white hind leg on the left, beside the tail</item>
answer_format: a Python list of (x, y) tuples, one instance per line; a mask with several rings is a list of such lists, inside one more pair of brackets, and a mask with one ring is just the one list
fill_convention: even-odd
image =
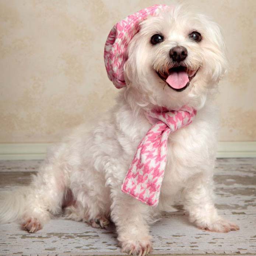
[(42, 166), (25, 194), (21, 227), (29, 233), (34, 233), (49, 221), (51, 214), (59, 214), (62, 210), (64, 190), (63, 169), (50, 163)]

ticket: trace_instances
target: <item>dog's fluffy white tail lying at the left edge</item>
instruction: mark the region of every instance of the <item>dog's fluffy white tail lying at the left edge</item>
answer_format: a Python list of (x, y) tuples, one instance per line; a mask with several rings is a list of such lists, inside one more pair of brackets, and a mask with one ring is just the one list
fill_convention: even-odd
[(26, 208), (29, 187), (0, 192), (0, 223), (13, 222), (22, 217)]

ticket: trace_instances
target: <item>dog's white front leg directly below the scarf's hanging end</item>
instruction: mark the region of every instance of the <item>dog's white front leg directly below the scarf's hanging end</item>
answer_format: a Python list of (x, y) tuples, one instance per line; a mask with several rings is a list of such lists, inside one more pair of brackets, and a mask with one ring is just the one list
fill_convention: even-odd
[(152, 251), (147, 224), (147, 220), (150, 218), (150, 206), (120, 193), (122, 192), (118, 192), (118, 195), (113, 198), (111, 212), (118, 232), (119, 245), (122, 252), (145, 256)]

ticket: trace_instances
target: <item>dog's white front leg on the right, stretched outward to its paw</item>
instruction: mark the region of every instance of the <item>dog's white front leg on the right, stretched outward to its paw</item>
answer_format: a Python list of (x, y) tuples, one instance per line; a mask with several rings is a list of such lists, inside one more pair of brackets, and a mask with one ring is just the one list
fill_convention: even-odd
[(218, 215), (213, 203), (213, 180), (199, 176), (183, 191), (184, 207), (189, 212), (190, 221), (200, 229), (214, 232), (238, 230), (238, 225)]

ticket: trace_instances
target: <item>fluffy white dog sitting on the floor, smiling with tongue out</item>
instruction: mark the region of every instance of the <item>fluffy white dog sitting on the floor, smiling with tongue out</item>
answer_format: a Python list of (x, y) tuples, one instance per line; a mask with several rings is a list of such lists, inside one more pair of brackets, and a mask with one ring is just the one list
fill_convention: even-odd
[[(123, 87), (115, 107), (91, 133), (80, 127), (53, 148), (29, 187), (1, 195), (2, 223), (20, 220), (28, 232), (36, 232), (51, 215), (63, 212), (64, 217), (93, 227), (105, 227), (111, 218), (122, 250), (146, 255), (152, 250), (149, 224), (172, 209), (179, 194), (190, 221), (200, 229), (239, 229), (220, 217), (213, 203), (217, 138), (213, 98), (227, 64), (220, 29), (184, 6), (145, 10), (119, 23), (121, 29), (128, 24), (132, 30), (119, 49), (126, 57), (121, 56), (125, 63), (119, 66), (118, 82), (115, 68), (110, 74), (105, 59), (109, 77), (116, 87)], [(131, 22), (141, 14), (137, 23)], [(112, 29), (111, 40), (118, 29), (117, 25)], [(110, 49), (111, 42), (105, 55)], [(121, 191), (136, 148), (152, 126), (145, 113), (184, 105), (197, 115), (169, 135), (159, 203), (148, 206)]]

